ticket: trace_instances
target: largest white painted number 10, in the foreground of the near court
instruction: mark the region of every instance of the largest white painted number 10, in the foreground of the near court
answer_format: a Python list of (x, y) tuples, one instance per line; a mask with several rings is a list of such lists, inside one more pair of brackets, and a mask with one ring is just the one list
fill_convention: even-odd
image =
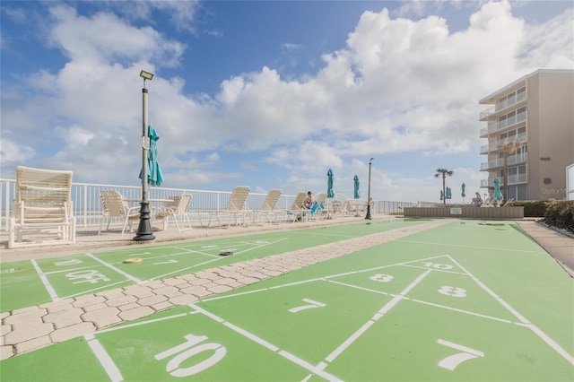
[[(172, 355), (178, 354), (173, 357), (165, 367), (165, 369), (173, 377), (189, 377), (199, 373), (200, 371), (204, 371), (204, 369), (208, 369), (222, 360), (222, 358), (225, 357), (225, 353), (227, 352), (225, 347), (219, 343), (203, 343), (207, 339), (207, 336), (205, 335), (187, 334), (184, 336), (184, 338), (187, 340), (187, 342), (155, 355), (156, 360), (163, 360), (171, 357)], [(190, 366), (188, 368), (179, 368), (179, 365), (181, 365), (184, 360), (187, 360), (188, 358), (193, 357), (194, 355), (201, 352), (207, 351), (213, 351), (213, 355), (206, 358), (205, 360), (202, 360), (196, 365)]]

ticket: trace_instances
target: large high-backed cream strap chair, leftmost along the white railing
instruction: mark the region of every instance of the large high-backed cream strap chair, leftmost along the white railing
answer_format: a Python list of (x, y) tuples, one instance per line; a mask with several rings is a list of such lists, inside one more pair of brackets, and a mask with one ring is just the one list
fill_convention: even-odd
[(72, 176), (72, 171), (16, 168), (9, 248), (75, 243)]

